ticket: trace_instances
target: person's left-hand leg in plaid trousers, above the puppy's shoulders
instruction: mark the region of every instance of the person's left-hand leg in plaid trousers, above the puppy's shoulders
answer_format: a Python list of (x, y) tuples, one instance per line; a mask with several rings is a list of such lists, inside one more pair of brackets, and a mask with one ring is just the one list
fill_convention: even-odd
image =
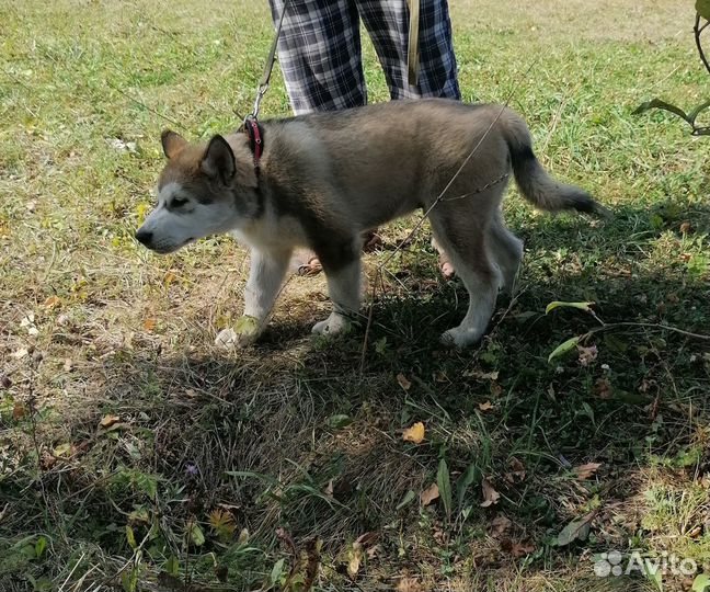
[[(284, 0), (270, 0), (278, 23)], [(364, 105), (359, 20), (351, 0), (290, 0), (278, 62), (296, 115)]]

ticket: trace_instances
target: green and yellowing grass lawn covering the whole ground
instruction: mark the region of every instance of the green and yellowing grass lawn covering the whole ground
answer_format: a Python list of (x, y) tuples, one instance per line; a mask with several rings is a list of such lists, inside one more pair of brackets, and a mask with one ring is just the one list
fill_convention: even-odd
[[(545, 164), (616, 217), (539, 215), (512, 191), (519, 289), (466, 352), (435, 344), (465, 291), (424, 228), (385, 274), (362, 373), (364, 330), (308, 334), (322, 277), (289, 280), (264, 340), (225, 352), (245, 252), (133, 239), (160, 130), (207, 138), (249, 111), (265, 4), (0, 0), (0, 589), (304, 590), (309, 558), (313, 590), (657, 589), (595, 577), (614, 549), (710, 571), (710, 348), (662, 327), (710, 327), (709, 145), (630, 115), (707, 96), (690, 2), (451, 2), (466, 100), (513, 92)], [(366, 71), (386, 100), (369, 47)], [(274, 79), (263, 113), (286, 115)], [(414, 224), (382, 230), (370, 278)], [(552, 300), (596, 303), (591, 363), (548, 363), (599, 327)], [(404, 442), (417, 421), (424, 442)], [(585, 516), (585, 540), (556, 544)]]

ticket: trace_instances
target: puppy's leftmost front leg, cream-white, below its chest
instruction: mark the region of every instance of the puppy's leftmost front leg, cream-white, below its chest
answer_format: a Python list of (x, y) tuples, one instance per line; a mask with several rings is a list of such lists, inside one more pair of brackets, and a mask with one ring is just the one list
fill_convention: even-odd
[(244, 289), (244, 314), (233, 329), (224, 329), (216, 339), (218, 345), (245, 346), (264, 330), (268, 315), (284, 281), (291, 249), (252, 249), (251, 269)]

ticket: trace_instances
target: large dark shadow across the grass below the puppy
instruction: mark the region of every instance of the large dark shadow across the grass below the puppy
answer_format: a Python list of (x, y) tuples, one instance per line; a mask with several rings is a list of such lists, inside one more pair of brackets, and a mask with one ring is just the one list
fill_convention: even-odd
[[(47, 418), (43, 445), (51, 447), (57, 430), (76, 444), (66, 458), (41, 459), (42, 475), (8, 485), (15, 520), (24, 532), (48, 532), (51, 553), (65, 566), (83, 561), (83, 572), (136, 562), (128, 524), (136, 540), (145, 537), (141, 577), (176, 557), (199, 581), (214, 581), (216, 562), (237, 589), (253, 587), (279, 559), (301, 569), (275, 534), (283, 527), (296, 553), (319, 537), (323, 569), (343, 585), (352, 542), (368, 532), (378, 547), (365, 581), (392, 584), (402, 570), (430, 565), (420, 576), (431, 582), (485, 587), (493, 578), (513, 590), (523, 570), (536, 589), (546, 570), (579, 562), (579, 578), (594, 583), (592, 553), (629, 540), (659, 550), (657, 532), (644, 524), (660, 512), (646, 503), (653, 487), (694, 483), (709, 469), (708, 348), (666, 329), (625, 328), (550, 364), (559, 343), (596, 321), (542, 311), (553, 299), (593, 300), (606, 322), (702, 332), (707, 275), (694, 275), (680, 255), (703, 229), (680, 232), (689, 213), (664, 218), (671, 206), (621, 209), (596, 228), (566, 217), (513, 220), (528, 249), (520, 293), (470, 351), (436, 345), (458, 322), (465, 293), (434, 272), (427, 287), (419, 272), (404, 273), (378, 297), (363, 373), (363, 331), (335, 342), (304, 337), (317, 319), (279, 322), (244, 352), (117, 351), (101, 363), (99, 392)], [(696, 227), (710, 219), (708, 208), (694, 214), (705, 216), (690, 220)], [(667, 230), (663, 257), (644, 251)], [(416, 421), (426, 426), (423, 443), (403, 442)], [(572, 468), (587, 463), (600, 465), (579, 478)], [(481, 506), (483, 479), (500, 493), (490, 508)], [(439, 501), (424, 506), (420, 493), (437, 481)], [(25, 496), (31, 482), (43, 493)], [(556, 544), (565, 524), (588, 515), (589, 540)], [(238, 540), (242, 528), (249, 537)], [(710, 533), (684, 544), (700, 554)]]

